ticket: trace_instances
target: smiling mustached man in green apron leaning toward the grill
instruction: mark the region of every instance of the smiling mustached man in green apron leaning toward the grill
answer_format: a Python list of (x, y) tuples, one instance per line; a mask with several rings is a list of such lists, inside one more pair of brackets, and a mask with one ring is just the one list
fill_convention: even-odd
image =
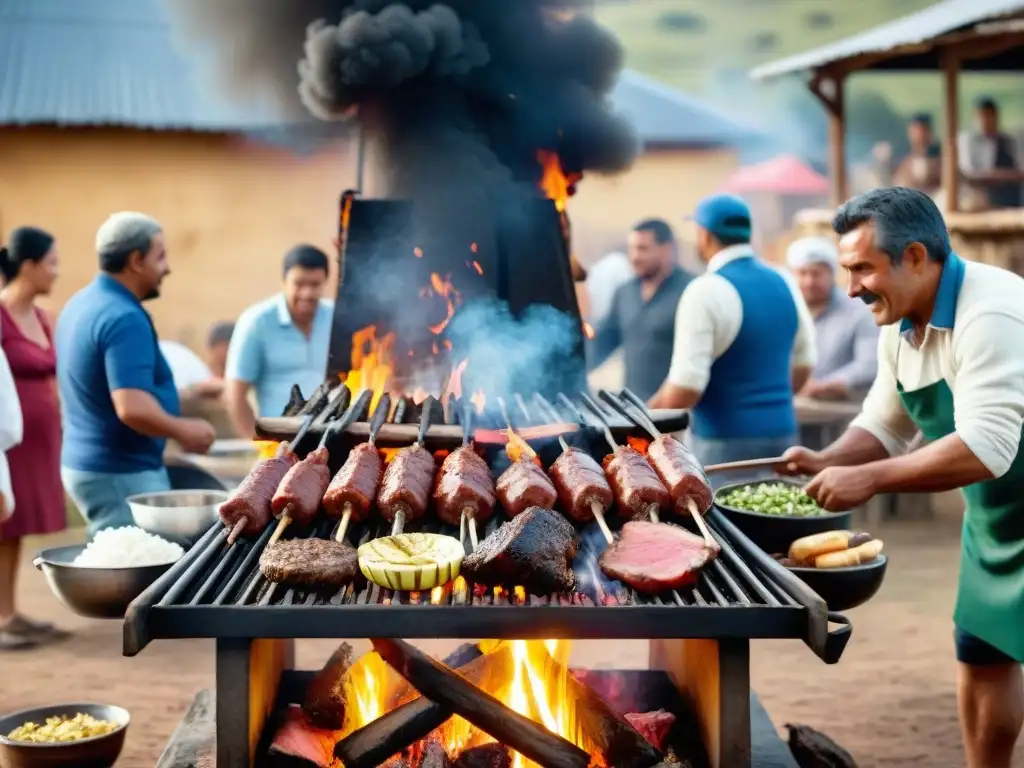
[[(952, 252), (923, 193), (877, 189), (833, 221), (849, 293), (884, 326), (863, 410), (820, 452), (791, 449), (826, 509), (963, 488), (955, 625), (969, 768), (1010, 768), (1024, 724), (1024, 280)], [(918, 431), (925, 445), (906, 453)]]

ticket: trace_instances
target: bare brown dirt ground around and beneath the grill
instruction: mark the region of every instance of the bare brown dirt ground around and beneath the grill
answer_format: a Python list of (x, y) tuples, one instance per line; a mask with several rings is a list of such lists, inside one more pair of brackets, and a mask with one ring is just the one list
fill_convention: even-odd
[[(795, 641), (757, 642), (753, 685), (776, 725), (818, 728), (863, 768), (962, 766), (950, 621), (958, 520), (908, 520), (881, 532), (891, 558), (886, 584), (870, 603), (849, 612), (854, 635), (841, 663), (825, 667)], [(76, 538), (29, 542), (28, 550)], [(0, 655), (0, 710), (74, 699), (120, 705), (133, 722), (119, 768), (153, 768), (193, 695), (213, 685), (213, 642), (160, 641), (124, 658), (121, 625), (69, 614), (32, 569), (31, 554), (26, 559), (23, 605), (75, 634), (57, 646)], [(441, 650), (440, 643), (426, 645)], [(300, 642), (300, 666), (318, 667), (333, 647)], [(645, 663), (639, 642), (581, 642), (573, 651), (578, 666)], [(1018, 760), (1024, 766), (1024, 745)]]

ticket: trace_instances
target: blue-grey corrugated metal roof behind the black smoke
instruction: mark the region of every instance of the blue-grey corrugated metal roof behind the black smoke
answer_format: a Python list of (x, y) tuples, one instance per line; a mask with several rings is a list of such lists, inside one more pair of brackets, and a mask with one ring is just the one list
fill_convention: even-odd
[[(233, 108), (201, 82), (160, 0), (0, 0), (0, 125), (246, 131), (279, 124)], [(623, 74), (612, 101), (648, 144), (728, 144), (757, 135), (634, 72)]]

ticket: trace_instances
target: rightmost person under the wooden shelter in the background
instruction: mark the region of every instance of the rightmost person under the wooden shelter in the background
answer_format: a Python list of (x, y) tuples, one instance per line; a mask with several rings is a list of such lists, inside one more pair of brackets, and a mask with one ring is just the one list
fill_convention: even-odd
[(1021, 173), (1017, 142), (999, 130), (999, 108), (987, 96), (975, 103), (976, 131), (957, 138), (961, 171), (987, 199), (989, 208), (1021, 206)]

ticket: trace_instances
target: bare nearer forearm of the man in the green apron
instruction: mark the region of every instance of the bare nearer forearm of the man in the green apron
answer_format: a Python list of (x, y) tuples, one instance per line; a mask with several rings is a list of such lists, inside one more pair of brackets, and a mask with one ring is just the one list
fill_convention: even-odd
[(872, 462), (880, 494), (929, 494), (953, 490), (982, 480), (992, 473), (955, 434), (904, 456)]

